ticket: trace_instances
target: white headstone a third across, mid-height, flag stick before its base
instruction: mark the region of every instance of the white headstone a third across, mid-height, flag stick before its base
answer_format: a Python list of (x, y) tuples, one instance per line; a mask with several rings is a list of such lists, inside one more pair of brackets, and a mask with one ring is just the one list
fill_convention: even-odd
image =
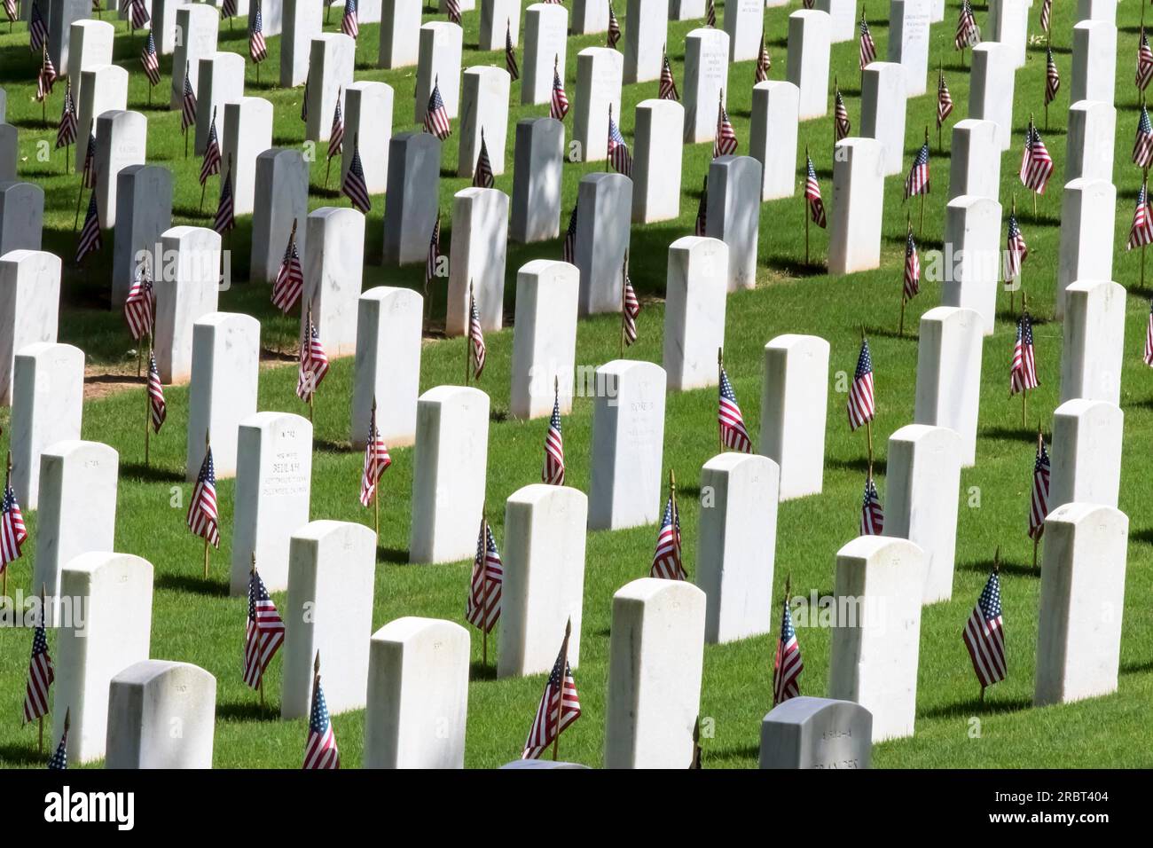
[(353, 448), (368, 443), (374, 399), (376, 427), (386, 445), (401, 448), (416, 438), (423, 317), (424, 299), (410, 288), (377, 286), (360, 297), (348, 436)]

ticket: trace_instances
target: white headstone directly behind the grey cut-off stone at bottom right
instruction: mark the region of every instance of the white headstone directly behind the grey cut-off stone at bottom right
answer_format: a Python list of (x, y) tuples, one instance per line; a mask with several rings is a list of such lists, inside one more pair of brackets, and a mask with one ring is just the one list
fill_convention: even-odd
[(913, 542), (883, 535), (837, 551), (837, 608), (851, 606), (832, 628), (829, 697), (873, 713), (874, 742), (913, 735), (925, 561)]

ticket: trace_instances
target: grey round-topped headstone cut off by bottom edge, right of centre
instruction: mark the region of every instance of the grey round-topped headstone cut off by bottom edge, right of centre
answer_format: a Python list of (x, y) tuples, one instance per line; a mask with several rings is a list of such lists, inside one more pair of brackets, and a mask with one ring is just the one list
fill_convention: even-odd
[(800, 696), (761, 722), (761, 768), (869, 768), (873, 715), (851, 700)]

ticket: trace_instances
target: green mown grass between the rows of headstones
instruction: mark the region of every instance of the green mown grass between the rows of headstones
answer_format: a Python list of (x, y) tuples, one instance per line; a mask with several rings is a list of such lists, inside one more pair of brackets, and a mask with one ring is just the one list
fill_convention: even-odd
[[(619, 6), (619, 5), (618, 5)], [(944, 197), (948, 188), (948, 145), (951, 126), (963, 118), (969, 99), (967, 70), (952, 50), (954, 22), (959, 3), (950, 0), (945, 21), (932, 32), (930, 68), (943, 60), (944, 73), (956, 110), (943, 133), (945, 150), (939, 150), (934, 126), (935, 80), (932, 69), (927, 93), (910, 98), (906, 120), (905, 166), (921, 143), (925, 126), (930, 127), (933, 192), (925, 205), (924, 231), (919, 234), (922, 267), (928, 254), (940, 249)], [(1001, 202), (1008, 205), (1017, 195), (1018, 219), (1028, 242), (1024, 265), (1024, 288), (1035, 328), (1040, 388), (1028, 393), (1028, 413), (1022, 425), (1019, 397), (1009, 398), (1009, 362), (1015, 333), (1015, 316), (1009, 313), (1009, 295), (1000, 297), (996, 331), (985, 339), (981, 375), (980, 429), (977, 465), (962, 472), (960, 510), (957, 527), (957, 569), (952, 599), (924, 610), (921, 622), (920, 668), (917, 699), (917, 734), (913, 737), (877, 745), (874, 765), (881, 767), (1087, 767), (1150, 766), (1153, 752), (1135, 741), (1148, 737), (1153, 720), (1153, 500), (1147, 479), (1153, 475), (1148, 433), (1153, 428), (1153, 373), (1141, 362), (1148, 300), (1153, 286), (1140, 287), (1140, 254), (1124, 250), (1133, 198), (1140, 174), (1129, 162), (1129, 149), (1137, 121), (1137, 102), (1129, 61), (1137, 40), (1136, 5), (1118, 7), (1117, 141), (1114, 181), (1117, 185), (1116, 245), (1114, 278), (1129, 292), (1125, 325), (1125, 359), (1121, 405), (1124, 419), (1123, 472), (1118, 508), (1130, 518), (1125, 607), (1121, 648), (1120, 688), (1115, 695), (1077, 704), (1033, 708), (1033, 668), (1037, 648), (1037, 617), (1040, 573), (1034, 571), (1032, 542), (1026, 535), (1028, 493), (1040, 421), (1048, 441), (1052, 413), (1058, 403), (1061, 325), (1052, 323), (1054, 277), (1057, 263), (1060, 194), (1065, 158), (1067, 110), (1071, 76), (1070, 39), (1073, 3), (1056, 3), (1054, 9), (1054, 53), (1063, 87), (1050, 108), (1049, 128), (1042, 117), (1045, 47), (1033, 44), (1027, 62), (1016, 77), (1012, 145), (1002, 157)], [(718, 3), (718, 16), (722, 3)], [(773, 59), (770, 80), (784, 77), (786, 16), (796, 9), (771, 8), (766, 13), (767, 37)], [(1037, 6), (1030, 13), (1031, 32), (1038, 31)], [(880, 20), (881, 3), (869, 3), (879, 55), (888, 43), (888, 28)], [(986, 8), (974, 6), (984, 23)], [(623, 16), (623, 9), (617, 9)], [(110, 13), (104, 14), (110, 20)], [(425, 21), (431, 17), (425, 9)], [(466, 12), (465, 67), (478, 63), (503, 66), (499, 52), (475, 50), (480, 12)], [(623, 17), (621, 17), (623, 20)], [(670, 22), (669, 50), (678, 83), (684, 74), (684, 36), (701, 22)], [(169, 111), (168, 83), (171, 57), (161, 58), (161, 84), (148, 105), (148, 81), (140, 68), (140, 33), (131, 38), (125, 23), (116, 21), (115, 62), (131, 70), (129, 108), (143, 112), (149, 120), (148, 158), (174, 173), (173, 225), (210, 226), (216, 208), (219, 178), (211, 178), (204, 213), (197, 212), (199, 186), (197, 157), (183, 157), (179, 132), (180, 114)], [(334, 12), (326, 31), (339, 30)], [(362, 24), (357, 46), (357, 80), (383, 80), (395, 90), (394, 132), (413, 128), (410, 92), (415, 68), (376, 68), (376, 24)], [(303, 88), (276, 85), (279, 63), (279, 37), (269, 38), (269, 58), (256, 82), (251, 63), (247, 70), (247, 91), (270, 99), (276, 106), (273, 144), (299, 147), (303, 125), (299, 119)], [(603, 35), (574, 36), (567, 51), (566, 88), (574, 93), (576, 52), (603, 45)], [(242, 18), (229, 27), (221, 23), (220, 50), (247, 54), (247, 32)], [(832, 47), (831, 76), (835, 74), (849, 106), (854, 134), (860, 123), (858, 46), (856, 39)], [(969, 65), (966, 52), (965, 65)], [(44, 249), (65, 257), (62, 307), (59, 340), (77, 345), (88, 355), (90, 375), (110, 370), (135, 375), (135, 353), (119, 310), (108, 312), (107, 292), (112, 257), (111, 232), (105, 232), (104, 249), (90, 257), (82, 269), (71, 262), (75, 253), (73, 217), (78, 177), (65, 175), (63, 151), (50, 162), (36, 157), (36, 143), (55, 138), (62, 81), (48, 102), (50, 128), (40, 120), (40, 105), (33, 100), (39, 57), (27, 46), (24, 24), (13, 35), (0, 33), (0, 84), (8, 91), (8, 120), (20, 128), (21, 179), (33, 180), (45, 190)], [(729, 69), (729, 113), (740, 149), (747, 151), (749, 134), (753, 62), (738, 62)], [(548, 113), (548, 106), (520, 106), (520, 83), (513, 83), (510, 127), (523, 117)], [(656, 97), (657, 83), (624, 87), (623, 132), (632, 141), (634, 107)], [(1035, 112), (1041, 134), (1056, 164), (1049, 192), (1039, 198), (1038, 215), (1032, 212), (1028, 193), (1017, 179), (1024, 128)], [(566, 121), (572, 129), (572, 118)], [(458, 122), (453, 121), (454, 130)], [(84, 128), (81, 128), (83, 135)], [(496, 187), (511, 193), (513, 138), (510, 130), (505, 151), (505, 174)], [(831, 204), (831, 108), (820, 120), (800, 126), (799, 147), (808, 145), (826, 203)], [(686, 145), (681, 181), (680, 217), (656, 225), (636, 225), (632, 231), (631, 276), (642, 298), (639, 318), (640, 340), (626, 357), (661, 361), (666, 249), (675, 239), (692, 233), (701, 180), (708, 167), (711, 144)], [(457, 136), (445, 143), (442, 166), (440, 210), (444, 222), (442, 245), (450, 243), (452, 195), (468, 180), (455, 177)], [(798, 182), (804, 159), (798, 162)], [(317, 145), (311, 165), (310, 208), (348, 205), (338, 196), (339, 160), (329, 189), (324, 182), (324, 144)], [(581, 175), (605, 170), (603, 162), (566, 164), (562, 232), (567, 222)], [(761, 208), (758, 287), (729, 295), (725, 366), (737, 391), (749, 431), (759, 434), (763, 345), (785, 332), (812, 333), (831, 344), (829, 419), (826, 438), (824, 490), (819, 496), (781, 504), (775, 568), (775, 613), (771, 633), (728, 645), (708, 645), (704, 652), (700, 714), (704, 738), (704, 767), (751, 767), (756, 764), (762, 716), (771, 706), (771, 665), (774, 639), (779, 626), (779, 605), (785, 580), (791, 577), (792, 594), (815, 592), (831, 595), (836, 551), (857, 535), (861, 488), (866, 473), (865, 431), (850, 433), (845, 422), (843, 389), (856, 365), (864, 325), (869, 337), (876, 375), (877, 417), (874, 422), (877, 485), (886, 500), (884, 460), (889, 435), (910, 423), (917, 368), (917, 328), (922, 312), (940, 303), (940, 283), (922, 280), (921, 293), (909, 305), (904, 337), (897, 335), (905, 240), (905, 210), (918, 223), (918, 205), (903, 204), (904, 177), (886, 180), (882, 263), (876, 271), (847, 277), (830, 277), (823, 270), (828, 238), (824, 231), (809, 231), (813, 262), (804, 263), (804, 203), (800, 192), (792, 198), (773, 201)], [(86, 197), (85, 197), (86, 202)], [(364, 288), (376, 285), (421, 287), (422, 267), (399, 270), (379, 265), (382, 215), (385, 198), (375, 196), (368, 215)], [(880, 210), (877, 210), (880, 213)], [(248, 313), (261, 321), (262, 347), (267, 359), (282, 359), (277, 367), (262, 370), (258, 408), (306, 414), (294, 393), (295, 352), (299, 317), (281, 316), (269, 301), (269, 287), (249, 284), (247, 267), (251, 219), (240, 219), (226, 238), (232, 249), (231, 290), (221, 292), (221, 310)], [(511, 243), (505, 273), (506, 329), (488, 333), (489, 360), (480, 388), (492, 400), (492, 422), (488, 458), (488, 516), (498, 546), (503, 545), (504, 501), (520, 487), (540, 480), (542, 444), (547, 419), (517, 421), (507, 415), (508, 373), (512, 354), (512, 316), (515, 271), (533, 258), (559, 258), (559, 239), (529, 246)], [(1151, 271), (1153, 273), (1153, 271)], [(1151, 277), (1153, 279), (1153, 277)], [(445, 280), (432, 292), (434, 332), (422, 351), (421, 391), (439, 384), (455, 384), (465, 367), (465, 340), (445, 339), (436, 331), (443, 324)], [(1019, 305), (1019, 295), (1017, 298)], [(1049, 320), (1049, 321), (1047, 321)], [(576, 363), (595, 367), (618, 357), (619, 317), (601, 315), (578, 325)], [(280, 355), (282, 354), (282, 355)], [(362, 452), (348, 443), (352, 391), (352, 358), (334, 362), (316, 397), (315, 457), (312, 464), (311, 518), (361, 521), (371, 525), (372, 512), (357, 501)], [(849, 377), (838, 377), (846, 372)], [(93, 380), (99, 380), (93, 376)], [(839, 380), (839, 382), (838, 382)], [(839, 389), (839, 390), (838, 390)], [(578, 387), (578, 393), (581, 387)], [(221, 480), (221, 546), (212, 553), (211, 579), (204, 581), (202, 540), (184, 526), (187, 498), (191, 485), (184, 482), (184, 428), (188, 419), (187, 387), (166, 389), (168, 420), (152, 438), (151, 466), (143, 464), (145, 396), (143, 384), (130, 381), (123, 391), (85, 403), (83, 437), (110, 444), (120, 453), (120, 486), (116, 510), (116, 550), (137, 554), (156, 568), (152, 646), (153, 658), (196, 663), (217, 677), (217, 767), (299, 767), (306, 737), (306, 720), (281, 721), (278, 714), (281, 660), (273, 661), (266, 680), (269, 706), (262, 711), (256, 692), (241, 681), (246, 600), (227, 594), (232, 539), (234, 480)], [(686, 566), (695, 575), (698, 519), (701, 510), (699, 479), (701, 465), (717, 452), (716, 389), (671, 393), (665, 421), (664, 467), (677, 474)], [(588, 490), (593, 400), (576, 397), (573, 412), (563, 421), (567, 459), (566, 482)], [(0, 450), (8, 445), (10, 411), (0, 410), (5, 434)], [(382, 481), (380, 538), (376, 571), (374, 631), (405, 615), (442, 617), (464, 622), (464, 603), (469, 563), (409, 565), (407, 540), (412, 489), (412, 448), (391, 448), (392, 467)], [(35, 590), (30, 585), (31, 563), (36, 557), (37, 515), (27, 511), (31, 539), (24, 557), (12, 569), (9, 594)], [(604, 746), (605, 686), (608, 676), (609, 628), (612, 594), (625, 583), (648, 575), (656, 526), (626, 531), (590, 532), (585, 578), (583, 645), (581, 663), (574, 676), (583, 716), (560, 740), (560, 753), (570, 759), (597, 766)], [(1043, 546), (1043, 542), (1042, 542)], [(990, 688), (984, 704), (978, 703), (979, 686), (962, 643), (962, 630), (977, 596), (988, 577), (994, 554), (1000, 548), (1002, 595), (1007, 630), (1008, 680)], [(274, 600), (282, 605), (285, 593)], [(282, 609), (282, 606), (281, 606)], [(282, 610), (285, 611), (285, 610)], [(285, 611), (286, 618), (291, 613)], [(498, 625), (499, 628), (499, 625)], [(489, 667), (481, 666), (480, 632), (473, 635), (473, 669), (469, 686), (466, 765), (491, 767), (515, 759), (541, 695), (543, 675), (497, 681), (493, 654), (496, 631), (490, 639)], [(363, 638), (369, 638), (368, 632)], [(562, 633), (558, 631), (559, 644)], [(20, 723), (28, 667), (30, 633), (15, 628), (0, 629), (0, 764), (43, 766), (46, 756), (36, 749), (35, 726)], [(828, 685), (830, 630), (824, 626), (798, 626), (805, 658), (800, 678), (802, 695), (824, 696)], [(55, 637), (50, 632), (50, 646)], [(338, 714), (333, 727), (345, 767), (356, 767), (362, 759), (363, 711)], [(687, 763), (685, 764), (688, 765)]]

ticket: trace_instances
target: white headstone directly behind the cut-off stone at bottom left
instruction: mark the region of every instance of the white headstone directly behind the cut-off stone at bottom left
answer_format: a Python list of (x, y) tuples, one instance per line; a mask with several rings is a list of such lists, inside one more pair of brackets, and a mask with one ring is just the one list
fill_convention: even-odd
[(112, 678), (148, 659), (152, 564), (131, 554), (81, 554), (65, 564), (60, 594), (61, 603), (84, 603), (84, 617), (59, 630), (50, 738), (63, 735), (67, 715), (68, 763), (76, 765), (105, 755)]

